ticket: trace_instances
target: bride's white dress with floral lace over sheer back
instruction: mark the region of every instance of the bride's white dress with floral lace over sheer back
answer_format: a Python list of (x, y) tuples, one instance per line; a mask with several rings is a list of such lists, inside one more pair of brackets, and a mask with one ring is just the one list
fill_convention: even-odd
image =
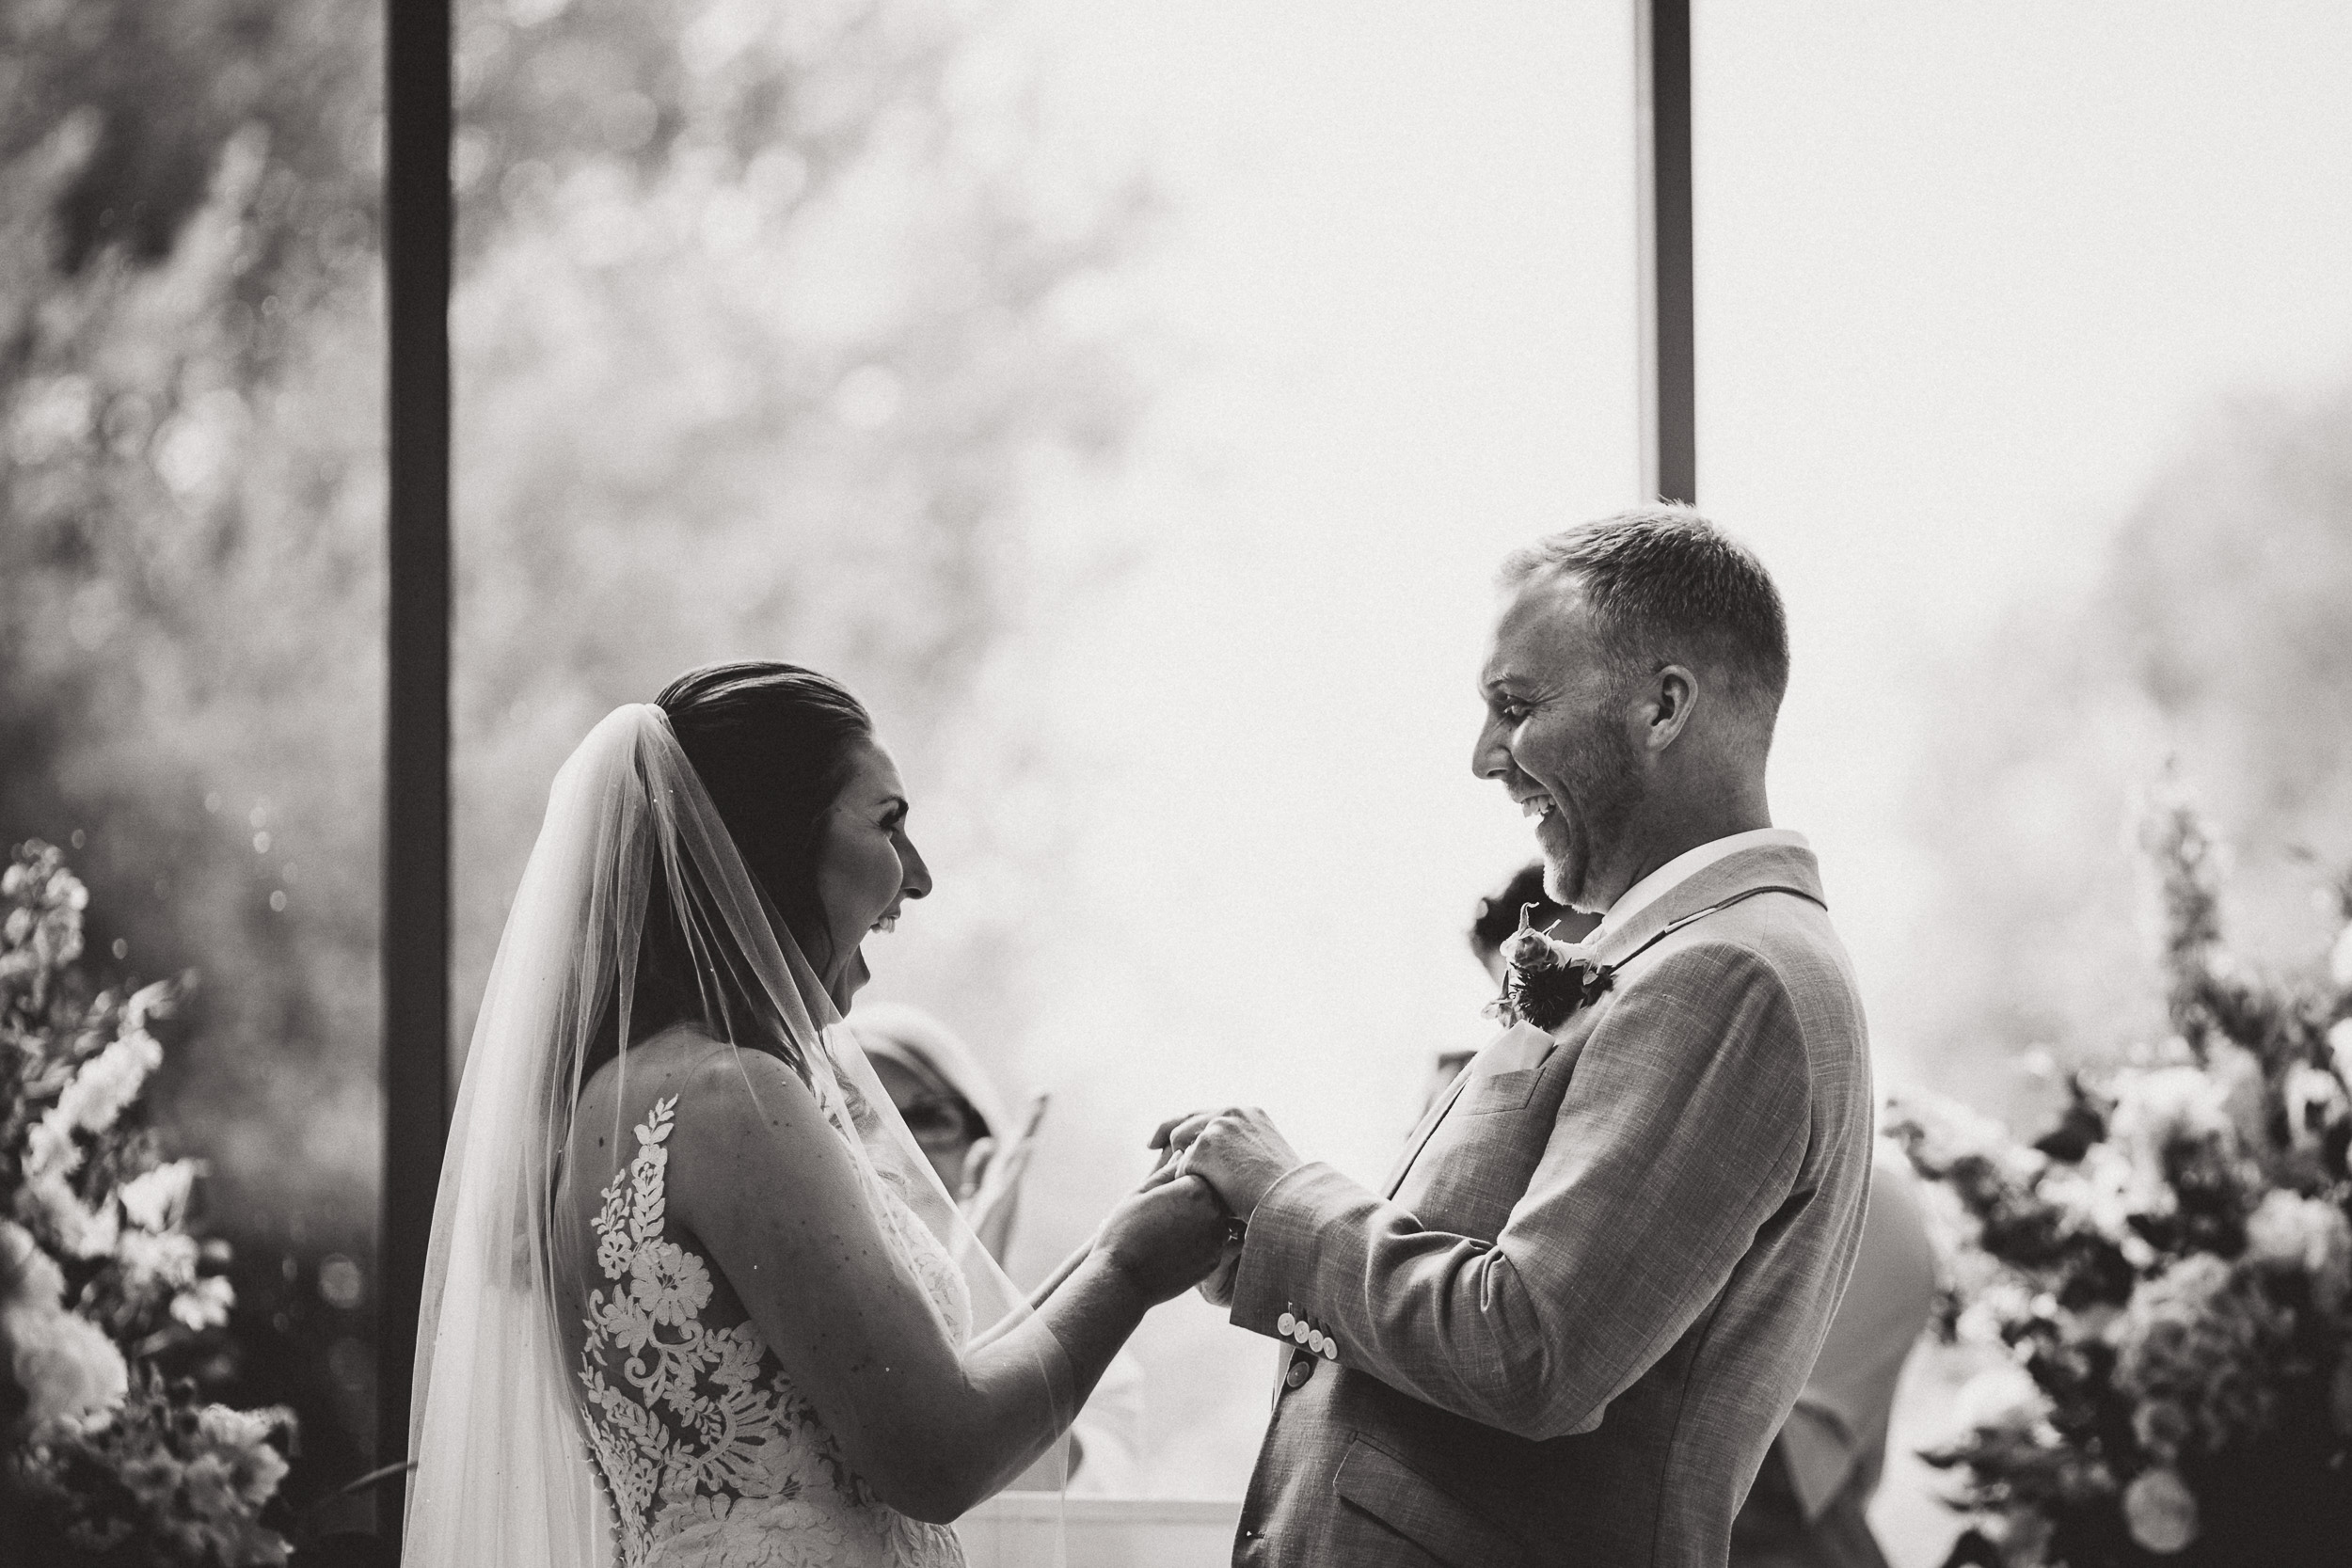
[[(713, 1295), (710, 1265), (666, 1237), (663, 1145), (675, 1117), (670, 1095), (637, 1124), (637, 1157), (604, 1187), (590, 1220), (607, 1286), (588, 1295), (579, 1380), (621, 1561), (626, 1568), (962, 1568), (953, 1530), (891, 1509), (842, 1462), (816, 1408), (793, 1389), (748, 1319), (729, 1328), (701, 1321)], [(934, 1305), (953, 1312), (953, 1300), (938, 1300), (946, 1258), (936, 1241), (924, 1232), (920, 1241), (931, 1246), (922, 1248), (908, 1234), (913, 1215), (896, 1213), (896, 1204), (887, 1218)]]

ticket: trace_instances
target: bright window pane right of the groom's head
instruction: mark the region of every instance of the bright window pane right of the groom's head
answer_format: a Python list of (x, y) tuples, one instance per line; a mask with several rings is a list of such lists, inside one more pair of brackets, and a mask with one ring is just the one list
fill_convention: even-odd
[[(2281, 729), (2199, 731), (2194, 703), (2138, 677), (2093, 708), (2025, 677), (2089, 642), (2138, 658), (2093, 614), (2124, 585), (2119, 550), (2201, 557), (2143, 583), (2197, 618), (2286, 607), (2286, 559), (2225, 536), (2272, 531), (2324, 581), (2328, 548), (2296, 520), (2326, 512), (2317, 454), (2343, 449), (2314, 393), (2352, 364), (2347, 59), (2352, 24), (2324, 5), (1698, 7), (1700, 487), (1788, 585), (1776, 806), (1828, 837), (1867, 910), (1849, 940), (1898, 1051), (2145, 1027), (2119, 1011), (2145, 992), (2129, 788), (2187, 748), (2239, 837), (2265, 795), (2307, 792), (2265, 757), (2328, 771), (2288, 762)], [(2241, 524), (2133, 531), (2150, 508)], [(2223, 592), (2239, 578), (2251, 597)], [(2143, 609), (2204, 668), (2265, 665)], [(2324, 618), (2293, 625), (2307, 651), (2328, 639)], [(2338, 684), (2272, 651), (2305, 698)], [(2296, 726), (2336, 748), (2338, 715)], [(2317, 931), (2284, 844), (2338, 844), (2326, 820), (2296, 809), (2241, 844), (2251, 919)], [(1980, 950), (1980, 931), (1999, 936)], [(2067, 973), (2037, 952), (2072, 954)]]

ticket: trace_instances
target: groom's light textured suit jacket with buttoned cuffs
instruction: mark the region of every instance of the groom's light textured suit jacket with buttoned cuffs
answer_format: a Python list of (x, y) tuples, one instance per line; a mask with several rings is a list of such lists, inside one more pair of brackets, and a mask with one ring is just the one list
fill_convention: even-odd
[(1717, 860), (1597, 957), (1613, 987), (1479, 1051), (1385, 1194), (1308, 1164), (1251, 1215), (1232, 1321), (1312, 1349), (1237, 1568), (1724, 1563), (1853, 1265), (1863, 1009), (1795, 846)]

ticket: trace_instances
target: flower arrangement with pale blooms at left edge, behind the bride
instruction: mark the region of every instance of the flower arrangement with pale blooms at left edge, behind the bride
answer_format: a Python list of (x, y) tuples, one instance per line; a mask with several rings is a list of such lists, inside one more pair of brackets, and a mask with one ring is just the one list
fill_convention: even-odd
[[(186, 980), (96, 990), (89, 893), (47, 844), (0, 872), (0, 1490), (40, 1563), (287, 1561), (261, 1523), (287, 1410), (207, 1403), (160, 1363), (233, 1305), (186, 1229), (198, 1164), (162, 1159), (139, 1093)], [(12, 1559), (14, 1561), (14, 1559)]]

